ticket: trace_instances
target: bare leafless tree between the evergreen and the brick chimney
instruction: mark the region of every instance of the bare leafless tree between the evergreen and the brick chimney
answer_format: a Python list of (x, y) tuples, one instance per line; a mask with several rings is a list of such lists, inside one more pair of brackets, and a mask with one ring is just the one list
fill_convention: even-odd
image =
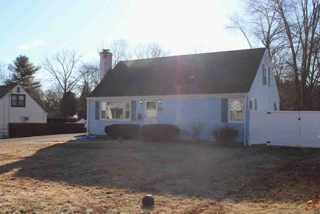
[(57, 80), (62, 94), (75, 89), (82, 74), (77, 72), (77, 65), (81, 56), (76, 52), (57, 52), (52, 57), (45, 57), (42, 68), (48, 71)]

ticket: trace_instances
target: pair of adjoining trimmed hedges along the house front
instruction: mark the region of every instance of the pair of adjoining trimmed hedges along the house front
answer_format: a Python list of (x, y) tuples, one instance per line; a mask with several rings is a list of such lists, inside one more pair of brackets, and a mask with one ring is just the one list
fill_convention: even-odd
[[(112, 139), (133, 139), (139, 134), (140, 125), (113, 124), (104, 127), (107, 136)], [(169, 124), (149, 124), (142, 126), (142, 136), (152, 141), (163, 141), (180, 133), (178, 126)]]

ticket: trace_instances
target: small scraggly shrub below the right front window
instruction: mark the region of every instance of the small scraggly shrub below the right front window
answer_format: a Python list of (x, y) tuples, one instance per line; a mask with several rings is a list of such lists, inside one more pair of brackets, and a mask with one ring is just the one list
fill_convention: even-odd
[(217, 125), (213, 128), (212, 135), (215, 140), (231, 142), (234, 141), (238, 135), (238, 130), (231, 124)]

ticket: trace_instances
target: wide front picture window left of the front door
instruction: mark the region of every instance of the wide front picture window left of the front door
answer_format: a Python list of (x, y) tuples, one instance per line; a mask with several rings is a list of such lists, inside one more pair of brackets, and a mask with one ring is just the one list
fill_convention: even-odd
[(130, 120), (130, 101), (101, 101), (101, 120)]

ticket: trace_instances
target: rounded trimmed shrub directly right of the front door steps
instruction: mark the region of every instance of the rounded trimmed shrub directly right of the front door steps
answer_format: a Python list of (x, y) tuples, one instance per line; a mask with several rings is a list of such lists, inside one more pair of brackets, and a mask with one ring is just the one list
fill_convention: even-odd
[(152, 141), (169, 140), (180, 133), (176, 125), (169, 124), (149, 124), (142, 126), (142, 135)]

